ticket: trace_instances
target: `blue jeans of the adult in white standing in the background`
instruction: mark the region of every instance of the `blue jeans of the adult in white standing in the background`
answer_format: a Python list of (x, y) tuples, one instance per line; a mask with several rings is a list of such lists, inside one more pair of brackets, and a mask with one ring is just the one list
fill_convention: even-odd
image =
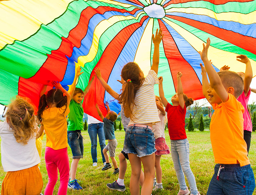
[(92, 155), (92, 162), (97, 163), (97, 134), (99, 137), (99, 143), (101, 147), (101, 156), (102, 156), (102, 162), (105, 163), (105, 157), (103, 154), (103, 149), (106, 146), (105, 142), (105, 135), (103, 131), (103, 123), (95, 123), (95, 124), (89, 124), (88, 125), (88, 133), (91, 139), (91, 155)]

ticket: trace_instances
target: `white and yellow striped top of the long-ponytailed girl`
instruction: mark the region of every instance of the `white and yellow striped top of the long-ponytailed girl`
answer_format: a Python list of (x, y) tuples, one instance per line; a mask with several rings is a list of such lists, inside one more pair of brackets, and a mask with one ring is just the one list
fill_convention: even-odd
[(159, 122), (158, 111), (155, 103), (154, 85), (159, 84), (157, 74), (149, 70), (141, 87), (136, 92), (133, 105), (133, 120), (128, 125)]

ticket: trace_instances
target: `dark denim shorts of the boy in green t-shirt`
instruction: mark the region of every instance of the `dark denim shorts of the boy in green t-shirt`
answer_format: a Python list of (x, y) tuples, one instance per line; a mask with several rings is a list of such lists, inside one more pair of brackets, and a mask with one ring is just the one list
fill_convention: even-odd
[(83, 136), (81, 130), (67, 131), (67, 143), (71, 148), (73, 159), (83, 158)]

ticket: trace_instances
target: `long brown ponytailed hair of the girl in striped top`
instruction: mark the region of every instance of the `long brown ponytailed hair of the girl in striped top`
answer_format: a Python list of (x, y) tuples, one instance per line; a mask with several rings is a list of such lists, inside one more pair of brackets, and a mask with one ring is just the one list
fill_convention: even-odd
[[(127, 118), (131, 120), (134, 118), (133, 115), (133, 105), (136, 92), (143, 83), (144, 78), (142, 78), (139, 73), (141, 72), (138, 64), (135, 62), (128, 62), (123, 66), (121, 76), (127, 81), (131, 79), (131, 82), (127, 82), (123, 92), (119, 95), (117, 99), (119, 102), (123, 103), (124, 114)], [(135, 105), (136, 106), (136, 105)]]

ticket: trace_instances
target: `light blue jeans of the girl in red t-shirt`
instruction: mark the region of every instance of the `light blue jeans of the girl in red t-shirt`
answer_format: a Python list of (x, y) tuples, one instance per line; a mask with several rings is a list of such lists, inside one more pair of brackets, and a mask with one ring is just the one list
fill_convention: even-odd
[(197, 194), (198, 190), (195, 183), (195, 176), (189, 166), (189, 140), (171, 140), (171, 155), (180, 189), (186, 190), (187, 188), (185, 182), (186, 176), (191, 193)]

